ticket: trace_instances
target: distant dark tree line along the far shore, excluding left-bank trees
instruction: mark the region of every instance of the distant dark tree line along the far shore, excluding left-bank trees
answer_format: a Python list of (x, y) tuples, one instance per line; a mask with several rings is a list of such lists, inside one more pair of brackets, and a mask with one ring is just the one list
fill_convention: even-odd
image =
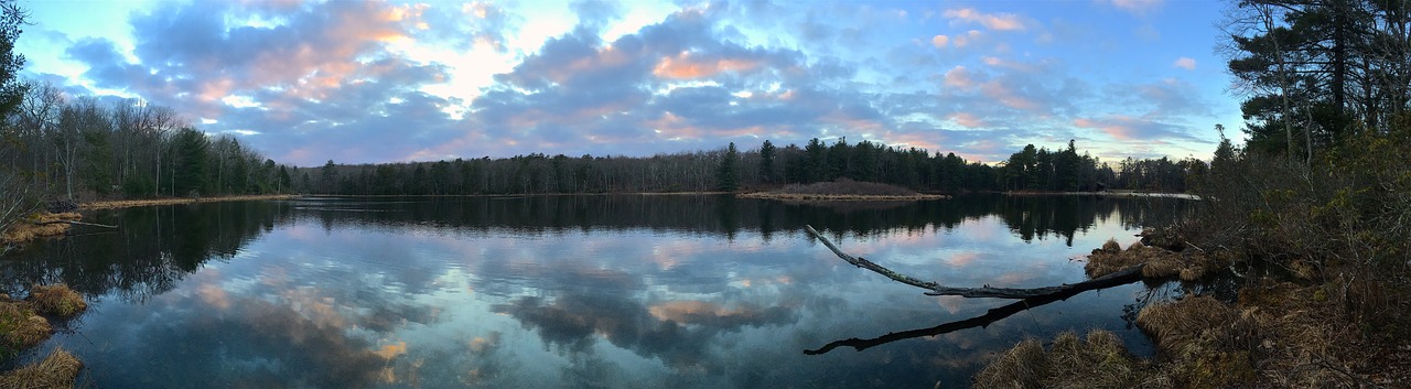
[(1199, 159), (1132, 159), (1116, 166), (1074, 142), (1048, 151), (1026, 145), (1000, 163), (838, 138), (803, 147), (722, 149), (632, 156), (529, 154), (436, 162), (339, 165), (293, 169), (293, 190), (332, 194), (536, 194), (765, 190), (835, 179), (882, 182), (921, 192), (1079, 192), (1134, 189), (1184, 192), (1208, 171)]

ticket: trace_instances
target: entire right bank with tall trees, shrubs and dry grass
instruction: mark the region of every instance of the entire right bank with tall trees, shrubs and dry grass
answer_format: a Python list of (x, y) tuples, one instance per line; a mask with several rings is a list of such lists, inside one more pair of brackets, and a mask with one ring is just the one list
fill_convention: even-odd
[[(1101, 273), (1235, 278), (1237, 297), (1153, 303), (1151, 359), (1109, 335), (1016, 345), (979, 388), (1397, 388), (1411, 382), (1411, 6), (1232, 1), (1243, 147), (1222, 137), (1197, 211), (1089, 257)], [(1194, 289), (1192, 289), (1194, 290)]]

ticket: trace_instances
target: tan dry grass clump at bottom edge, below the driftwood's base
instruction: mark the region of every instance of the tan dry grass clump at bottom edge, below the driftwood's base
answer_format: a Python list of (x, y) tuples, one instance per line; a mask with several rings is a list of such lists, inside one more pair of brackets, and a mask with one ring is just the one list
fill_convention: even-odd
[(1167, 382), (1106, 330), (1092, 330), (1086, 340), (1072, 331), (1058, 334), (1048, 352), (1026, 340), (975, 375), (975, 388), (1151, 388)]

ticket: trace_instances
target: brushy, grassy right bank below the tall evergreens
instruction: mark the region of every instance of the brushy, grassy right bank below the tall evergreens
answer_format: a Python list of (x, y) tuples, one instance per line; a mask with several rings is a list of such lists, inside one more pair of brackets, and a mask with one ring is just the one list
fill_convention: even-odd
[[(1205, 200), (1191, 217), (1146, 231), (1143, 242), (1127, 249), (1108, 242), (1088, 257), (1086, 271), (1096, 276), (1146, 264), (1147, 278), (1195, 283), (1221, 275), (1237, 286), (1236, 299), (1192, 293), (1141, 309), (1136, 324), (1157, 344), (1151, 359), (1105, 344), (1079, 352), (1074, 340), (1062, 337), (1044, 350), (1033, 340), (996, 358), (975, 385), (1400, 388), (1411, 382), (1411, 165), (1404, 159), (1411, 117), (1401, 120), (1390, 131), (1348, 138), (1314, 161), (1222, 145), (1209, 173), (1199, 178), (1195, 194)], [(1074, 364), (1065, 362), (1071, 359), (1103, 368), (1072, 373)]]

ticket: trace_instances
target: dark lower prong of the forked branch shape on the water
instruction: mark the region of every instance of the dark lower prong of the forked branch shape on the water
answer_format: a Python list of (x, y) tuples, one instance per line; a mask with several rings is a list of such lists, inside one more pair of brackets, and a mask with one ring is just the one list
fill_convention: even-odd
[(1068, 289), (1065, 289), (1062, 292), (1058, 292), (1058, 293), (1038, 296), (1038, 297), (1029, 297), (1029, 299), (1023, 299), (1023, 300), (1019, 300), (1019, 302), (1009, 303), (1009, 304), (1002, 306), (1002, 307), (991, 309), (985, 314), (981, 314), (981, 316), (976, 316), (976, 317), (971, 317), (971, 319), (965, 319), (965, 320), (958, 320), (958, 321), (951, 321), (951, 323), (945, 323), (945, 324), (930, 327), (930, 328), (917, 328), (917, 330), (909, 330), (909, 331), (888, 333), (886, 335), (880, 335), (880, 337), (869, 338), (869, 340), (859, 340), (859, 338), (838, 340), (838, 341), (832, 341), (830, 344), (825, 344), (825, 345), (823, 345), (823, 347), (820, 347), (817, 350), (804, 350), (803, 354), (817, 355), (817, 354), (824, 354), (824, 352), (832, 351), (834, 348), (838, 348), (838, 347), (852, 347), (856, 351), (862, 351), (862, 350), (868, 350), (868, 348), (872, 348), (872, 347), (876, 347), (876, 345), (883, 345), (883, 344), (899, 341), (899, 340), (909, 340), (909, 338), (919, 338), (919, 337), (934, 337), (934, 335), (950, 334), (950, 333), (965, 330), (965, 328), (989, 327), (991, 323), (999, 321), (999, 320), (1002, 320), (1005, 317), (1010, 317), (1010, 316), (1013, 316), (1016, 313), (1020, 313), (1020, 311), (1024, 311), (1024, 310), (1029, 310), (1029, 309), (1036, 309), (1038, 306), (1043, 306), (1043, 304), (1047, 304), (1047, 303), (1053, 303), (1053, 302), (1058, 302), (1058, 300), (1067, 300), (1068, 297), (1077, 296), (1077, 295), (1079, 295), (1082, 292), (1095, 290), (1095, 289), (1106, 289), (1106, 288), (1119, 286), (1119, 285), (1127, 285), (1127, 283), (1132, 283), (1132, 282), (1137, 282), (1140, 279), (1141, 279), (1141, 273), (1140, 272), (1127, 273), (1126, 276), (1122, 276), (1122, 278), (1102, 278), (1101, 282), (1098, 282), (1098, 280), (1084, 282), (1082, 286), (1068, 288)]

